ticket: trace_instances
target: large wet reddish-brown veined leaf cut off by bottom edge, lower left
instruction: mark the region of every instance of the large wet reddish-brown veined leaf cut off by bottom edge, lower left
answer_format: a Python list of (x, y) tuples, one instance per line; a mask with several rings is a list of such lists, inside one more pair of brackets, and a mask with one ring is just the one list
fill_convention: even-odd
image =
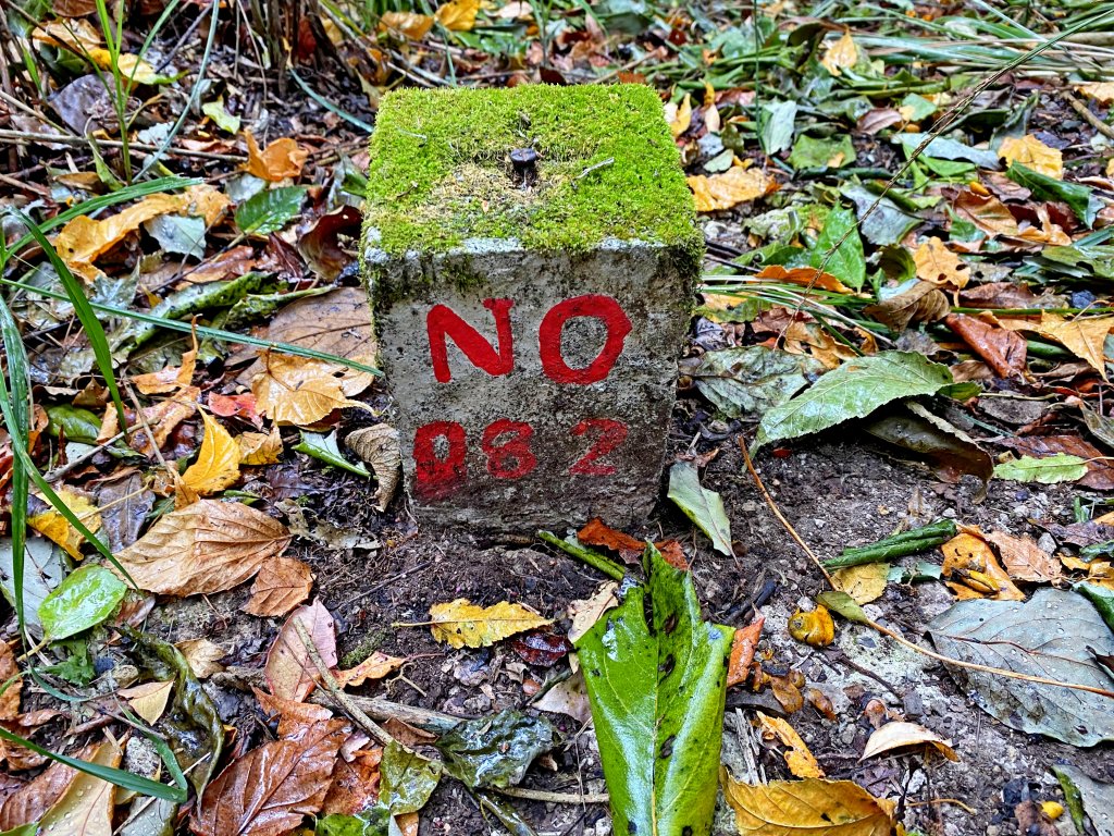
[(343, 720), (325, 720), (233, 761), (208, 785), (189, 829), (197, 836), (290, 833), (321, 810), (345, 729)]

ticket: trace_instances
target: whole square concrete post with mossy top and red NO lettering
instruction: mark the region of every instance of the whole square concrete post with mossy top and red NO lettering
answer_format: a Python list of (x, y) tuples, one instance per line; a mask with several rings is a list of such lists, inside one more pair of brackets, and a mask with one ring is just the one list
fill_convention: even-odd
[(521, 533), (643, 518), (703, 246), (655, 93), (391, 94), (365, 214), (419, 518)]

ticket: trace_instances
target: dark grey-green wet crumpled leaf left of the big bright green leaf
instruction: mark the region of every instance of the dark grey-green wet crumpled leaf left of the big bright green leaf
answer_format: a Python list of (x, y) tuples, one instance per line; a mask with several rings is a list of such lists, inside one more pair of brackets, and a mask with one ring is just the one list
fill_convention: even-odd
[(437, 741), (444, 770), (471, 789), (517, 785), (534, 759), (556, 745), (548, 718), (517, 709), (457, 723)]

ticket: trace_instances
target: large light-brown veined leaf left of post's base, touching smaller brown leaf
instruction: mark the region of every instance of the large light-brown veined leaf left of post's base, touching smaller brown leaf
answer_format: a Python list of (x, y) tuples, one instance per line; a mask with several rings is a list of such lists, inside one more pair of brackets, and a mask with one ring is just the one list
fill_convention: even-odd
[(139, 589), (202, 595), (242, 584), (290, 545), (286, 526), (242, 503), (201, 499), (117, 555)]

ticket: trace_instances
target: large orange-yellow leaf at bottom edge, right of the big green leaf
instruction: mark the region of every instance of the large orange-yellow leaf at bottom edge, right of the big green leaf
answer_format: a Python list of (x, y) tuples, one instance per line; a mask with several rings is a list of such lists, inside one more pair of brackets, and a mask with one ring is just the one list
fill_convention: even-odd
[(721, 771), (723, 795), (746, 836), (890, 836), (895, 803), (851, 781), (740, 784)]

